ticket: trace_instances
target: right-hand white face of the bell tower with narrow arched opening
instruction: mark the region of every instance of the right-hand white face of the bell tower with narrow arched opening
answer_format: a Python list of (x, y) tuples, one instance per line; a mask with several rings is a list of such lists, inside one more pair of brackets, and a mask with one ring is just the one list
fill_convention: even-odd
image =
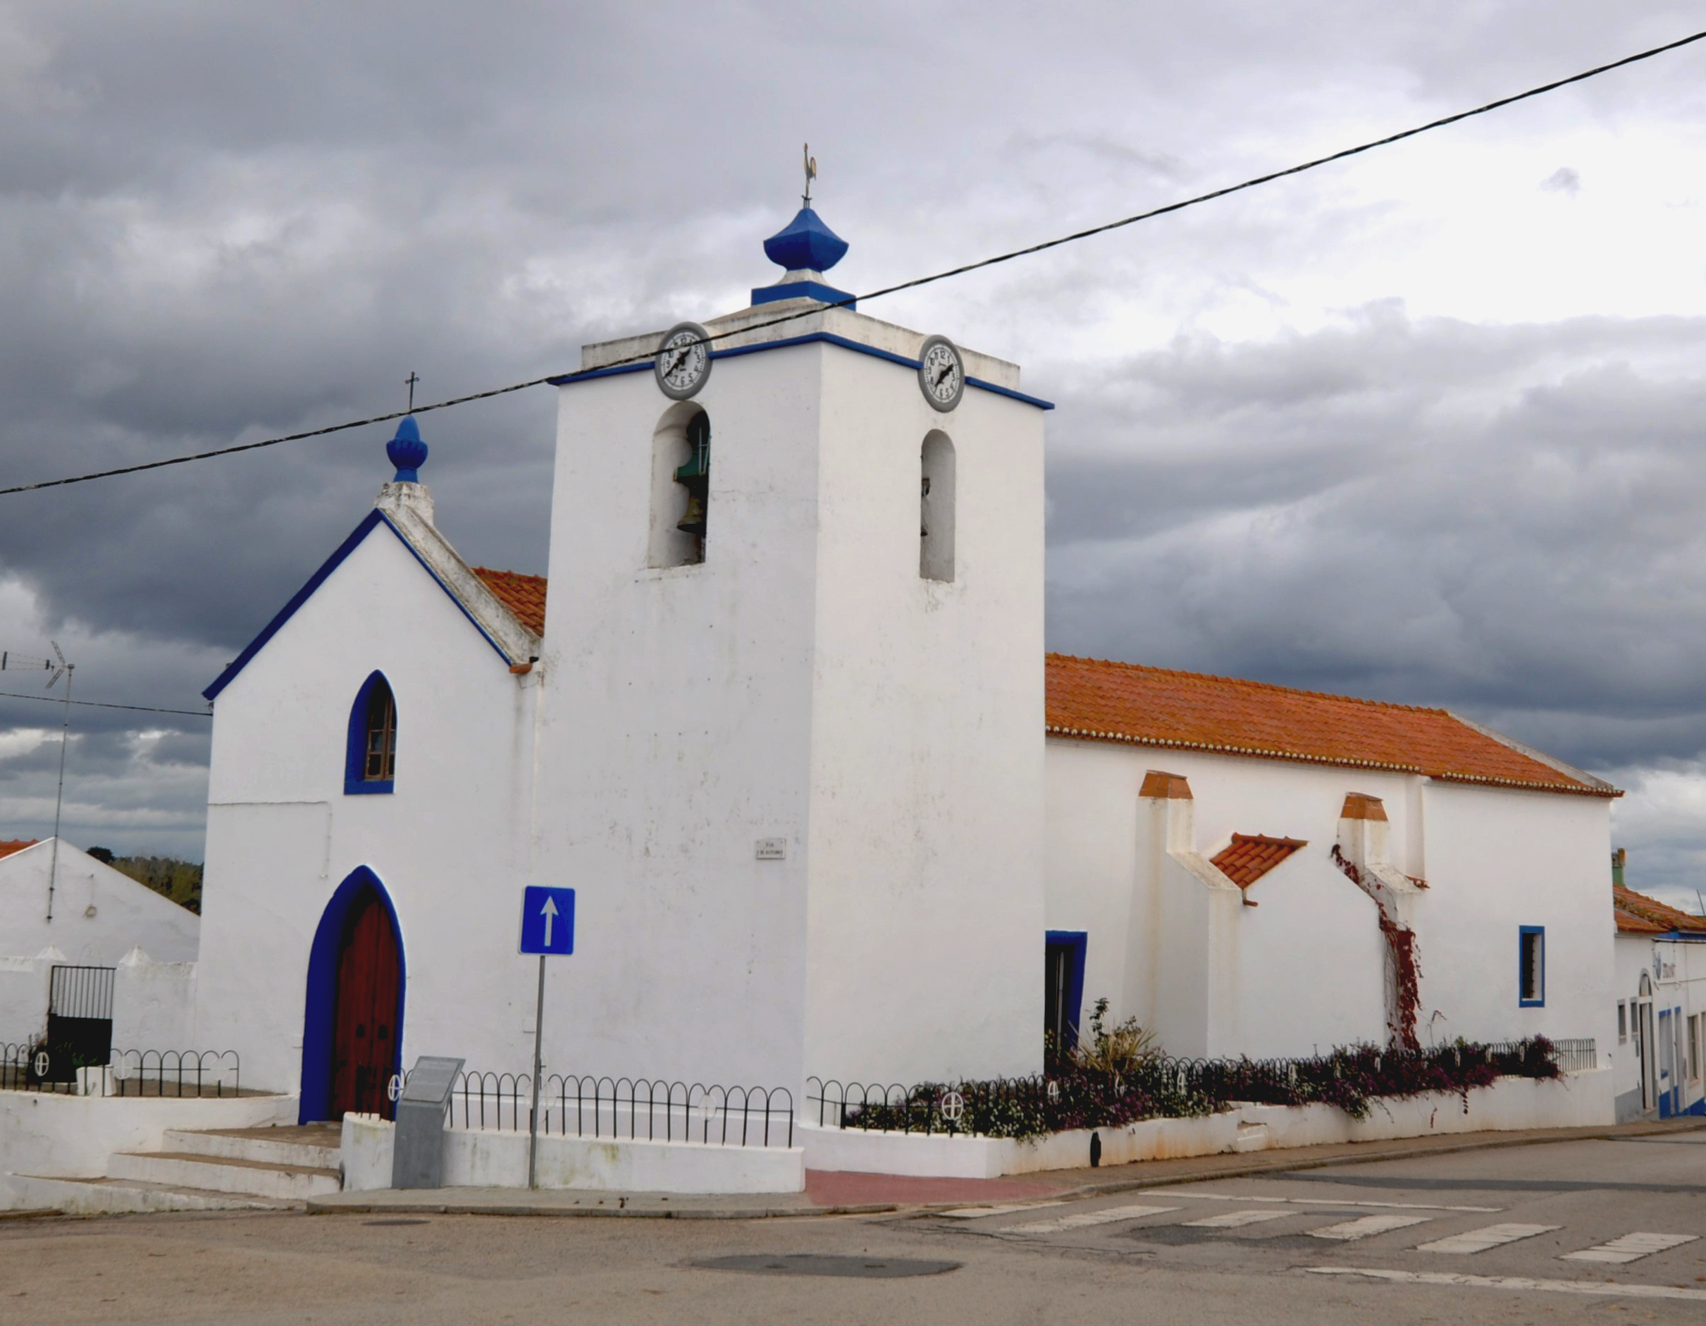
[[(1032, 1073), (1044, 415), (971, 387), (943, 415), (913, 370), (822, 353), (807, 1072)], [(920, 575), (931, 430), (955, 456), (952, 582)]]

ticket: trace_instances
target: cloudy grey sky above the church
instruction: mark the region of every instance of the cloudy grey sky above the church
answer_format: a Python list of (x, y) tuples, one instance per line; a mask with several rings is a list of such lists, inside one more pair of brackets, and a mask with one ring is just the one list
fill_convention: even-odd
[[(805, 138), (865, 290), (1701, 27), (1665, 0), (817, 9), (0, 0), (0, 486), (742, 307)], [(1692, 908), (1703, 236), (1706, 43), (863, 307), (1059, 403), (1053, 648), (1459, 708), (1628, 788), (1631, 882)], [(544, 568), (551, 396), (425, 420), (473, 561)], [(367, 510), (387, 432), (0, 498), (0, 648), (200, 710)], [(200, 858), (206, 732), (78, 710), (67, 836)], [(0, 698), (0, 838), (49, 831), (56, 761), (58, 710)]]

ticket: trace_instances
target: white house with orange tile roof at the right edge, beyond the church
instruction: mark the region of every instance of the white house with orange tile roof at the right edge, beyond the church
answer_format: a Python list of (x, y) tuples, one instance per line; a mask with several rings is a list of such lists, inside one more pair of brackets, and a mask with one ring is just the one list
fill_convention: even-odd
[(1706, 1114), (1706, 916), (1624, 887), (1614, 855), (1617, 922), (1617, 1120)]

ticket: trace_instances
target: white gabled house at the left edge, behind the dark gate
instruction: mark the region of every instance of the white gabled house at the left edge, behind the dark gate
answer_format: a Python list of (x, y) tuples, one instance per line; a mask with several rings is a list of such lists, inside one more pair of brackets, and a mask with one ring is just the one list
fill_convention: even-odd
[(78, 968), (97, 971), (61, 976), (61, 998), (75, 986), (80, 1010), (89, 1000), (106, 1007), (114, 1044), (184, 1048), (201, 920), (63, 840), (58, 862), (51, 838), (7, 846), (15, 850), (0, 855), (0, 1044), (41, 1036), (53, 969)]

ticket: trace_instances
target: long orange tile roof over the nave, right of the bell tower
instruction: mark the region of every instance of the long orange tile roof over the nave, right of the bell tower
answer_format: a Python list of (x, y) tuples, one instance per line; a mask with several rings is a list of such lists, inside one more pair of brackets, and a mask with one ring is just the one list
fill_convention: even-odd
[(1297, 691), (1261, 681), (1047, 655), (1047, 730), (1192, 751), (1423, 773), (1465, 783), (1621, 797), (1525, 754), (1443, 708)]

